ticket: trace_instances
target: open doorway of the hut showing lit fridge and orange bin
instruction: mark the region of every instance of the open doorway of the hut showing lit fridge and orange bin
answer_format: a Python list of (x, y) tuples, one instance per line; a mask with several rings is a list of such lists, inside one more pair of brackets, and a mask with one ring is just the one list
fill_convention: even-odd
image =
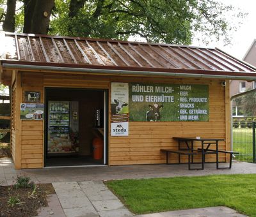
[(45, 88), (45, 167), (106, 164), (106, 94)]

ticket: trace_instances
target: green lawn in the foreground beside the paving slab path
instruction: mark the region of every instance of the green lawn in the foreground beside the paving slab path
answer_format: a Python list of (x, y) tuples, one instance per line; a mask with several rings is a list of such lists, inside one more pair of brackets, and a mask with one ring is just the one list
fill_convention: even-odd
[(227, 206), (256, 216), (256, 174), (106, 182), (132, 213)]

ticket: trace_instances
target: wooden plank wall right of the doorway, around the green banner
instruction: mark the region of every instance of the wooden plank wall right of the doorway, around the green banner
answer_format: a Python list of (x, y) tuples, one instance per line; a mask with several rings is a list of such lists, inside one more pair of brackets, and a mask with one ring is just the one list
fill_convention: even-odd
[[(143, 82), (150, 80), (145, 79)], [(110, 165), (165, 163), (166, 156), (159, 150), (177, 147), (172, 137), (225, 139), (225, 87), (220, 86), (220, 80), (154, 79), (154, 83), (208, 84), (209, 122), (130, 122), (129, 137), (109, 138)], [(225, 142), (220, 143), (220, 149), (225, 149), (225, 146)], [(173, 157), (170, 162), (177, 163), (177, 157)], [(222, 154), (220, 161), (225, 160)], [(187, 157), (182, 157), (182, 161), (187, 161)], [(195, 161), (200, 161), (200, 158)], [(206, 161), (216, 161), (216, 155), (207, 155)]]

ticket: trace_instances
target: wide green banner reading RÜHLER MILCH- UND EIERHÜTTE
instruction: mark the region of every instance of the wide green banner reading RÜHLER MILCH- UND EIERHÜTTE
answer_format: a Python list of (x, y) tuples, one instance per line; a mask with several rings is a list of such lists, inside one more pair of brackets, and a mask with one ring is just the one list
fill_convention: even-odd
[(209, 121), (209, 87), (130, 83), (129, 121)]

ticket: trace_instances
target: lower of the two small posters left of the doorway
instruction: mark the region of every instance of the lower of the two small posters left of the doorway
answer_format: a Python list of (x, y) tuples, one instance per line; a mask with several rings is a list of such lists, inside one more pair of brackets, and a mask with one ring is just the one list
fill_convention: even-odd
[(42, 120), (44, 119), (43, 103), (20, 103), (20, 119)]

